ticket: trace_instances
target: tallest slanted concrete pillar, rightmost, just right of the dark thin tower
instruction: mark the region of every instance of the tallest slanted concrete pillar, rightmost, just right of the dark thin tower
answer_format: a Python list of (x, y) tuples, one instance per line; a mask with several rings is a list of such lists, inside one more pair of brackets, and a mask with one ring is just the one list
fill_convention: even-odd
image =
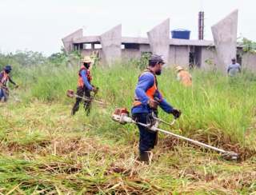
[(238, 10), (211, 27), (217, 52), (217, 67), (222, 73), (237, 54)]

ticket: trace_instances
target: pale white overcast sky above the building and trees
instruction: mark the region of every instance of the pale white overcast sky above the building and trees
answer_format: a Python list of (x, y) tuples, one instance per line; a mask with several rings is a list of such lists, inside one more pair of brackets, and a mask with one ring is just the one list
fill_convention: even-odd
[(210, 26), (238, 9), (238, 36), (256, 41), (255, 0), (0, 0), (0, 51), (34, 50), (50, 55), (61, 39), (79, 28), (99, 35), (122, 23), (122, 36), (146, 32), (170, 18), (171, 30), (191, 30), (198, 38), (198, 11), (205, 11), (205, 39)]

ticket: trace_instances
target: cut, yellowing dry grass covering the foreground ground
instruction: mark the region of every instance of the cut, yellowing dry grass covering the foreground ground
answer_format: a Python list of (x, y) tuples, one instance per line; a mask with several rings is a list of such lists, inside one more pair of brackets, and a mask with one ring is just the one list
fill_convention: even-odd
[[(35, 101), (13, 106), (5, 105), (1, 114), (6, 119), (0, 123), (4, 128), (0, 142), (2, 194), (238, 194), (256, 190), (254, 155), (242, 162), (224, 161), (217, 153), (161, 136), (154, 161), (142, 165), (135, 160), (135, 126), (129, 132), (110, 122), (110, 128), (124, 136), (125, 141), (119, 141), (119, 135), (110, 137), (110, 129), (98, 134), (102, 124), (94, 123), (97, 110), (86, 118), (82, 110), (70, 117), (70, 106), (61, 104)], [(126, 133), (135, 135), (126, 139)], [(198, 139), (206, 141), (206, 137)], [(210, 142), (222, 145), (221, 139), (215, 140)]]

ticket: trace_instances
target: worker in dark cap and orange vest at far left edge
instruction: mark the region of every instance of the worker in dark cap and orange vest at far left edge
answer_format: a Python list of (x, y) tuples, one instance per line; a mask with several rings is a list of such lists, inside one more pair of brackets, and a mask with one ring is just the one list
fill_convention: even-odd
[(12, 83), (15, 87), (18, 87), (16, 83), (10, 78), (10, 71), (12, 70), (12, 67), (10, 65), (7, 65), (3, 68), (2, 72), (0, 73), (0, 101), (7, 101), (9, 90), (7, 87), (7, 82), (9, 81)]

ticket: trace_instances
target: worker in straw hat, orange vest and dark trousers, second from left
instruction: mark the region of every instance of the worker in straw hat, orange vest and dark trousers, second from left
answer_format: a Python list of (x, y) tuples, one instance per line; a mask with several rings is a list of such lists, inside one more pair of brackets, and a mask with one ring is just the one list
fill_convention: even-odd
[[(94, 93), (97, 93), (98, 88), (95, 88), (90, 84), (92, 77), (90, 76), (90, 65), (92, 63), (92, 60), (89, 56), (86, 56), (82, 61), (82, 66), (78, 72), (78, 88), (77, 88), (77, 95), (80, 97), (87, 98), (88, 101), (84, 101), (84, 108), (87, 111), (87, 115), (90, 112), (90, 92), (93, 91)], [(71, 114), (74, 115), (78, 109), (79, 104), (82, 101), (82, 98), (76, 98), (76, 101), (74, 103), (73, 109)]]

